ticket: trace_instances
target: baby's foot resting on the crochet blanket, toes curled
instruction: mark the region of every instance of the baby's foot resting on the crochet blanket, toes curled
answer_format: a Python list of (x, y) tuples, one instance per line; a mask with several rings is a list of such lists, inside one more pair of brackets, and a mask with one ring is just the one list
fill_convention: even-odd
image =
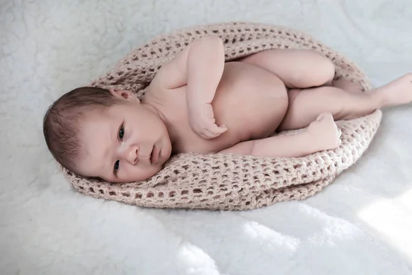
[(317, 120), (310, 123), (308, 133), (317, 151), (330, 150), (341, 145), (342, 131), (334, 122), (331, 113), (321, 113)]

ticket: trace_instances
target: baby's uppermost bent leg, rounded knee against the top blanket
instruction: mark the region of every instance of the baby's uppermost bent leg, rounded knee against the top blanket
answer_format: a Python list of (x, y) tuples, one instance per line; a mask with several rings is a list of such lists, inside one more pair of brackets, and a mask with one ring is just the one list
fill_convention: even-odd
[(330, 85), (335, 73), (332, 61), (314, 50), (266, 50), (241, 61), (273, 72), (288, 88)]

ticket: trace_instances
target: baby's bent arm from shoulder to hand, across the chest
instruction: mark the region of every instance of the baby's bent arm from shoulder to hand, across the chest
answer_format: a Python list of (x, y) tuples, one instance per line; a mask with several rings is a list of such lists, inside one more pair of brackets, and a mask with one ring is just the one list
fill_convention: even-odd
[(187, 85), (187, 109), (190, 126), (204, 138), (224, 133), (225, 126), (215, 124), (211, 102), (222, 78), (225, 51), (218, 36), (196, 39), (159, 69), (157, 78), (165, 89)]

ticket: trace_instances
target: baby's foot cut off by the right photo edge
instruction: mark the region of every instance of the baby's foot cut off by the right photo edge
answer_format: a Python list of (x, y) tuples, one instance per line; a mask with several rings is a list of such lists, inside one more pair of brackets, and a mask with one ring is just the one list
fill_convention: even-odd
[(371, 90), (382, 99), (383, 105), (400, 105), (412, 102), (412, 73), (382, 87)]

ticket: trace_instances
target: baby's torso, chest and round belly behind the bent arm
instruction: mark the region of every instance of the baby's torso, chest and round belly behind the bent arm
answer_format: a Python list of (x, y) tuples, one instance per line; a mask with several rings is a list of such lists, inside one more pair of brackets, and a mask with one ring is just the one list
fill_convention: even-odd
[(284, 118), (286, 88), (277, 76), (242, 62), (225, 63), (212, 107), (216, 123), (227, 131), (205, 140), (192, 131), (187, 112), (186, 86), (167, 90), (151, 85), (146, 100), (162, 102), (174, 153), (216, 153), (238, 142), (271, 135)]

